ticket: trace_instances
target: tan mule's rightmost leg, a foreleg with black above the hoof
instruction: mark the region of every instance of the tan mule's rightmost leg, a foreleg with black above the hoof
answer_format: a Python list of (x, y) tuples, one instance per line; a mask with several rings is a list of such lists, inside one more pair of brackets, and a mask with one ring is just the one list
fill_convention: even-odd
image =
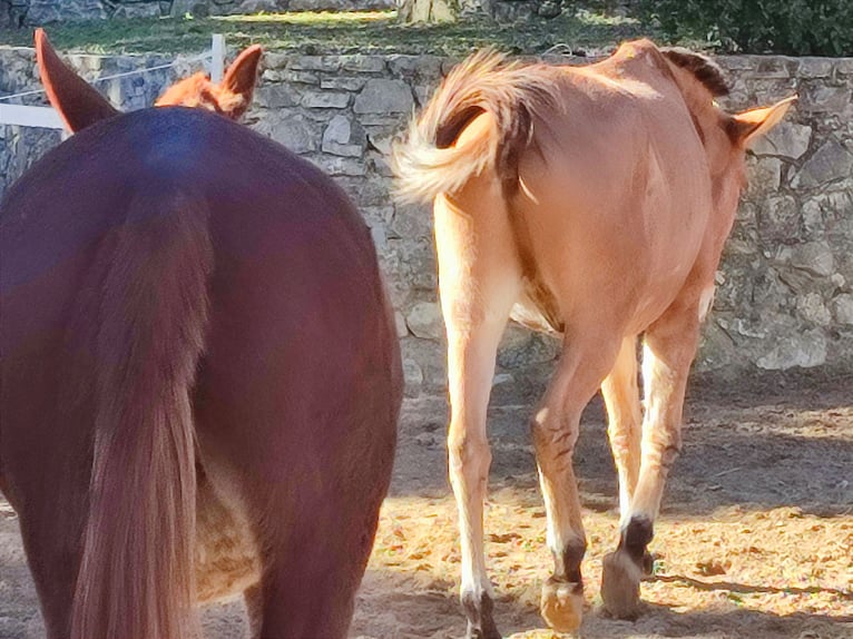
[(684, 393), (698, 326), (698, 313), (687, 308), (665, 315), (646, 333), (643, 355), (646, 415), (639, 479), (630, 508), (621, 515), (619, 545), (605, 557), (601, 576), (605, 608), (622, 619), (639, 615), (639, 582), (651, 572), (647, 548), (667, 474), (682, 449)]

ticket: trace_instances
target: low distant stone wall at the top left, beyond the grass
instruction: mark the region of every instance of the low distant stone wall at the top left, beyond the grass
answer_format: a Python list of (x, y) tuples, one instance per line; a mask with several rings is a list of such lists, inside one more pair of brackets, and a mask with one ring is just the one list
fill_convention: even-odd
[(393, 7), (393, 0), (0, 0), (0, 28), (185, 13), (205, 17), (258, 11), (366, 11)]

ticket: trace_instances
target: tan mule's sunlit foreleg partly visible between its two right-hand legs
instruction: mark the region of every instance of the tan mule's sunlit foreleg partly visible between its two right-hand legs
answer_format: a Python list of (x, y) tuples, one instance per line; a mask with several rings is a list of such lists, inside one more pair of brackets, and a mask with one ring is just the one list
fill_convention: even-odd
[(619, 473), (619, 514), (627, 518), (637, 488), (643, 415), (637, 385), (637, 337), (622, 340), (616, 364), (601, 384), (607, 406), (607, 435)]

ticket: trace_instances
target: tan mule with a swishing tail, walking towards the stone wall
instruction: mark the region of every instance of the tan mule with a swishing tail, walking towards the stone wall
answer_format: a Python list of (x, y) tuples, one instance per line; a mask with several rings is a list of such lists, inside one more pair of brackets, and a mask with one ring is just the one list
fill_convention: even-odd
[[(726, 91), (708, 58), (647, 40), (587, 67), (480, 52), (448, 76), (394, 149), (400, 197), (433, 203), (469, 637), (500, 636), (482, 503), (491, 460), (486, 409), (508, 318), (565, 335), (531, 423), (555, 559), (541, 609), (555, 629), (580, 623), (586, 541), (571, 454), (599, 386), (622, 529), (636, 520), (631, 530), (645, 535), (640, 523), (657, 517), (680, 448), (699, 318), (744, 186), (745, 148), (791, 105), (729, 115), (714, 102)], [(641, 571), (625, 552), (622, 540), (606, 562), (605, 604), (630, 617)]]

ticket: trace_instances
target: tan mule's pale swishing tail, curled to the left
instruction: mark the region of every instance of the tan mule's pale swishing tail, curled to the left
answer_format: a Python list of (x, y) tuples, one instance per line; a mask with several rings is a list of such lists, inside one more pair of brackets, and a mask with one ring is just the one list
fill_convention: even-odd
[[(455, 67), (412, 120), (408, 139), (394, 148), (398, 196), (429, 201), (489, 167), (504, 183), (514, 183), (533, 115), (558, 101), (553, 78), (545, 65), (510, 62), (488, 50)], [(491, 114), (491, 130), (457, 146), (459, 134), (482, 112)]]

